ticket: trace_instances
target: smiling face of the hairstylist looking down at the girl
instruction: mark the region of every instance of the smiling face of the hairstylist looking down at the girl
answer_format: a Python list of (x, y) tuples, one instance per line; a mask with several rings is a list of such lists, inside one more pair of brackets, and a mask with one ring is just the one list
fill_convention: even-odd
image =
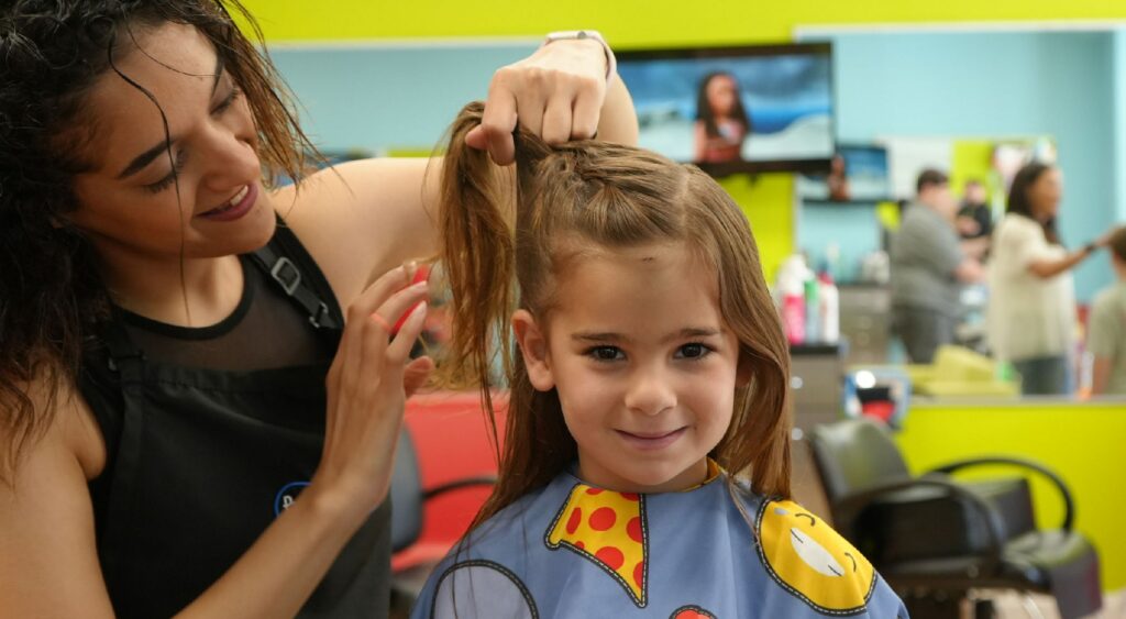
[(195, 28), (134, 34), (136, 45), (127, 43), (117, 68), (157, 101), (113, 69), (99, 78), (83, 113), (93, 140), (81, 146), (96, 170), (74, 179), (71, 219), (109, 261), (179, 260), (181, 243), (187, 259), (260, 246), (272, 233), (274, 209), (238, 84)]

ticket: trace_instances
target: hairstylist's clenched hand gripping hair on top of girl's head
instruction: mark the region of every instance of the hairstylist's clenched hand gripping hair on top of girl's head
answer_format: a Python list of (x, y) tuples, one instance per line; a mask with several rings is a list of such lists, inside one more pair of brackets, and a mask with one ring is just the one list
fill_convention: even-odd
[(606, 52), (597, 41), (556, 41), (515, 64), (489, 84), (481, 125), (465, 136), (488, 149), (500, 165), (512, 163), (517, 122), (548, 144), (595, 136), (606, 98)]

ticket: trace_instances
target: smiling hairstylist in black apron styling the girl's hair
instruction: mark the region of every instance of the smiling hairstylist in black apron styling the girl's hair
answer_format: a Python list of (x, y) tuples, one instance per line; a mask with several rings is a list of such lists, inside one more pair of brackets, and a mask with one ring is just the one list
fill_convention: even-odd
[[(436, 252), (440, 161), (275, 189), (309, 142), (227, 8), (0, 8), (0, 617), (387, 612), (430, 367), (401, 264)], [(472, 146), (635, 140), (600, 38), (556, 38), (497, 72)]]

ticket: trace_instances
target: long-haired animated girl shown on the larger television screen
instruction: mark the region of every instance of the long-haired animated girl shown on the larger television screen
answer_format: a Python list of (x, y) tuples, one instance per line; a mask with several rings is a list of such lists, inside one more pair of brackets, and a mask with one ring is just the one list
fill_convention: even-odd
[(696, 102), (696, 161), (723, 163), (742, 158), (751, 118), (743, 107), (739, 83), (731, 73), (708, 73), (700, 81)]

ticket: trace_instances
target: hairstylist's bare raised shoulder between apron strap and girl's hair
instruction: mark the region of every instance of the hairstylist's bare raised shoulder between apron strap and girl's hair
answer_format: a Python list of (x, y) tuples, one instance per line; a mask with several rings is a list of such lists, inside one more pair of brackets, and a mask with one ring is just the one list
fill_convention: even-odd
[(365, 159), (274, 195), (342, 305), (387, 269), (437, 251), (440, 159)]

